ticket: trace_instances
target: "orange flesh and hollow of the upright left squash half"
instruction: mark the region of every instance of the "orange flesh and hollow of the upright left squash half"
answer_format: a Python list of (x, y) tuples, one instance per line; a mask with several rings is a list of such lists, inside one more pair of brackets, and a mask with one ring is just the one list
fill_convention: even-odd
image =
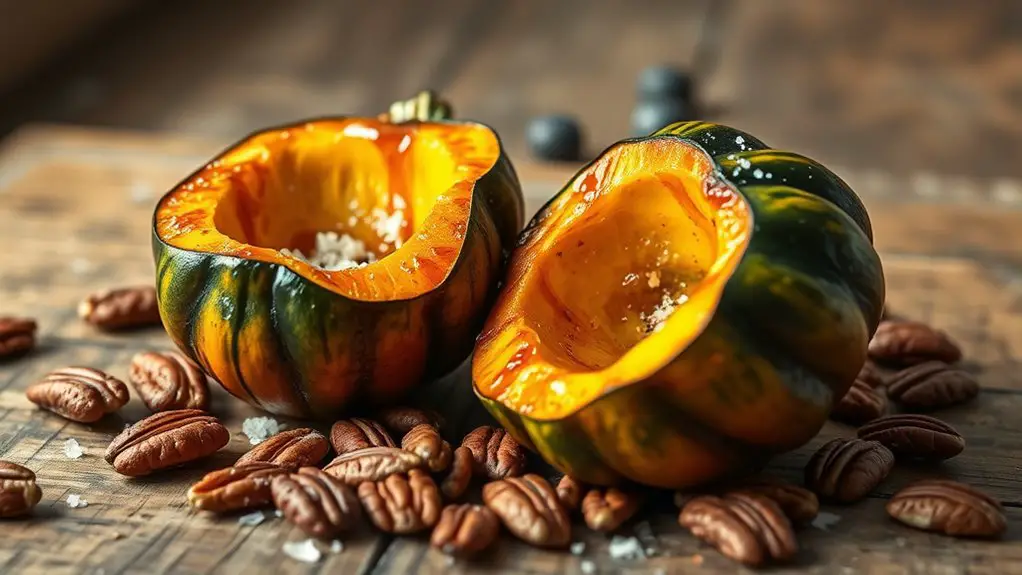
[[(475, 124), (350, 118), (271, 130), (165, 196), (156, 233), (174, 247), (283, 265), (352, 299), (409, 299), (450, 274), (475, 182), (500, 153)], [(400, 225), (383, 231), (383, 218)], [(362, 240), (379, 259), (325, 271), (279, 251), (308, 254), (328, 231)]]

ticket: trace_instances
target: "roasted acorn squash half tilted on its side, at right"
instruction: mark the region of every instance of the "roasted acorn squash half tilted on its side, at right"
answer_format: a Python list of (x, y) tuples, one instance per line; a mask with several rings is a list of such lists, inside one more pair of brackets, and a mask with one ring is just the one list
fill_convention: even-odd
[(837, 176), (676, 124), (608, 148), (522, 232), (474, 389), (583, 481), (697, 485), (808, 441), (883, 302), (869, 218)]

